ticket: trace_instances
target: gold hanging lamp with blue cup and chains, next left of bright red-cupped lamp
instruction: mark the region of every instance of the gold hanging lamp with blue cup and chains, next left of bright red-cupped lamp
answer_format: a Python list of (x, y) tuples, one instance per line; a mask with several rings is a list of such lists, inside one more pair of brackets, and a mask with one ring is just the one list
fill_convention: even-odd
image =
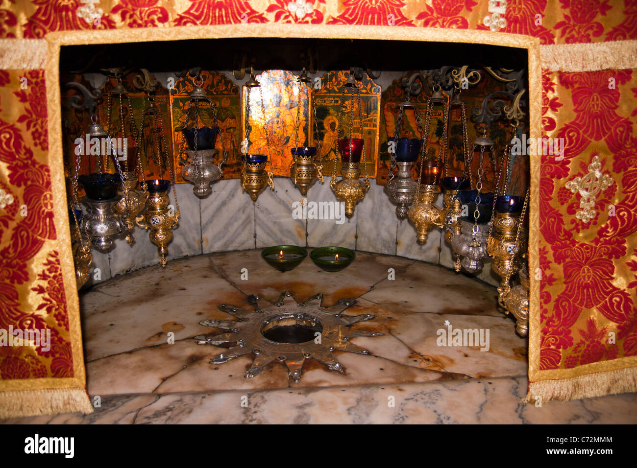
[[(298, 78), (299, 82), (299, 95), (296, 106), (296, 127), (294, 127), (294, 148), (290, 150), (292, 153), (292, 165), (290, 166), (290, 178), (292, 183), (299, 188), (301, 195), (304, 197), (308, 193), (308, 188), (314, 183), (315, 180), (323, 183), (323, 164), (320, 161), (318, 164), (315, 162), (315, 157), (320, 154), (320, 143), (317, 141), (317, 146), (299, 146), (299, 127), (301, 126), (301, 88), (305, 87), (306, 96), (308, 98), (308, 106), (311, 103), (311, 87), (308, 83), (311, 83), (308, 77), (306, 69), (303, 68), (301, 76)], [(301, 84), (303, 83), (303, 85)], [(314, 108), (316, 113), (316, 108)], [(308, 110), (308, 143), (310, 140), (310, 111)], [(316, 122), (316, 115), (314, 116), (315, 131), (317, 134), (315, 138), (318, 138), (318, 126)]]

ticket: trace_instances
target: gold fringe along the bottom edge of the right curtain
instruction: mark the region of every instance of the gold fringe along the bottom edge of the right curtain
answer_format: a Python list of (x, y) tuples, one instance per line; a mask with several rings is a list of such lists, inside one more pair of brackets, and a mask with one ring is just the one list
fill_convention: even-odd
[(568, 379), (540, 380), (529, 383), (529, 393), (520, 404), (551, 400), (569, 401), (637, 392), (637, 367), (595, 372)]

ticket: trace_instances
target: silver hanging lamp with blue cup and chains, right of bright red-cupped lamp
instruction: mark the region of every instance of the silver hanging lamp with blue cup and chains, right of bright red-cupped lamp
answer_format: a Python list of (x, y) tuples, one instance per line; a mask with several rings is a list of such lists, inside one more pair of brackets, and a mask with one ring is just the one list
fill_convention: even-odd
[[(407, 92), (406, 101), (400, 104), (394, 138), (389, 140), (390, 148), (393, 147), (393, 151), (390, 151), (389, 174), (387, 176), (389, 180), (385, 185), (385, 193), (389, 195), (389, 200), (392, 203), (397, 204), (396, 216), (401, 220), (407, 216), (409, 207), (413, 203), (413, 197), (418, 190), (418, 183), (412, 179), (412, 167), (423, 147), (422, 140), (418, 138), (399, 138), (404, 110), (414, 109), (413, 104), (409, 101), (409, 94)], [(420, 127), (418, 114), (416, 120)], [(397, 172), (396, 176), (394, 176), (394, 169)]]

